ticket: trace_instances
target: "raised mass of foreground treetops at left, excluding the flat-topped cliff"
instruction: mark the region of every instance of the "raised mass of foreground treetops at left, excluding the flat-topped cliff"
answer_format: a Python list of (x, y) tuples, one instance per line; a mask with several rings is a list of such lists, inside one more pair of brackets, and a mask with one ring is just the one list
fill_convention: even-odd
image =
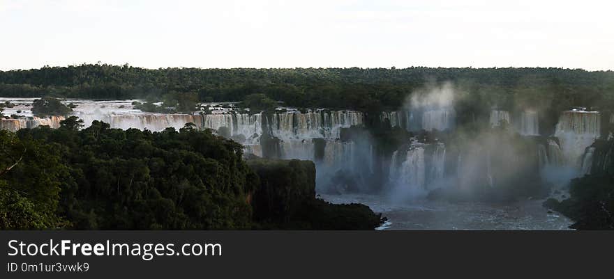
[(57, 228), (63, 218), (77, 229), (252, 227), (255, 182), (241, 145), (189, 125), (160, 133), (98, 121), (79, 130), (76, 118), (61, 125), (1, 131), (0, 169), (18, 162), (0, 176), (4, 228)]

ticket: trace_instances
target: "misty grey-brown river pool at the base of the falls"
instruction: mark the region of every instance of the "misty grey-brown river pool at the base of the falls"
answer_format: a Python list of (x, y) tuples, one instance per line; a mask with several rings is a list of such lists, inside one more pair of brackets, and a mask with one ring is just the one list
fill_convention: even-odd
[(570, 230), (569, 218), (548, 213), (544, 200), (510, 203), (414, 200), (398, 204), (370, 194), (324, 195), (332, 203), (358, 202), (388, 218), (378, 230)]

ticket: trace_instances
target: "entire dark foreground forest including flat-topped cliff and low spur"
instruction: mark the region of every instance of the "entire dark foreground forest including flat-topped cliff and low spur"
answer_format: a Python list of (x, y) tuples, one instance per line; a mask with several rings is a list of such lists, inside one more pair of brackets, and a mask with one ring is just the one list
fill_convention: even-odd
[[(317, 200), (312, 162), (248, 164), (241, 145), (189, 124), (151, 132), (95, 121), (80, 129), (82, 121), (72, 116), (59, 129), (0, 131), (0, 229), (373, 230), (380, 224), (364, 205)], [(274, 181), (280, 172), (285, 180)]]

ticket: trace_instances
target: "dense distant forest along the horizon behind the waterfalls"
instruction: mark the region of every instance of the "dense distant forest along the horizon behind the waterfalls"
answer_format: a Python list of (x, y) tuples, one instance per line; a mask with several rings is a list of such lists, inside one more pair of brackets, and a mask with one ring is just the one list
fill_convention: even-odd
[(510, 110), (614, 104), (614, 72), (512, 67), (149, 70), (84, 64), (0, 72), (0, 96), (161, 101), (179, 93), (197, 95), (200, 102), (239, 102), (264, 94), (289, 106), (380, 111), (398, 109), (413, 90), (441, 81), (470, 93), (466, 102)]

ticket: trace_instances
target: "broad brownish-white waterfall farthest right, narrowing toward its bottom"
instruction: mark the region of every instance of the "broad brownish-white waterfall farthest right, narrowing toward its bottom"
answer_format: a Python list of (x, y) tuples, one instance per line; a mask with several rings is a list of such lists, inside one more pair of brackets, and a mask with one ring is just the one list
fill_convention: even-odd
[(560, 141), (564, 160), (570, 166), (581, 168), (585, 148), (599, 138), (601, 120), (594, 111), (564, 111), (556, 125), (555, 136)]

